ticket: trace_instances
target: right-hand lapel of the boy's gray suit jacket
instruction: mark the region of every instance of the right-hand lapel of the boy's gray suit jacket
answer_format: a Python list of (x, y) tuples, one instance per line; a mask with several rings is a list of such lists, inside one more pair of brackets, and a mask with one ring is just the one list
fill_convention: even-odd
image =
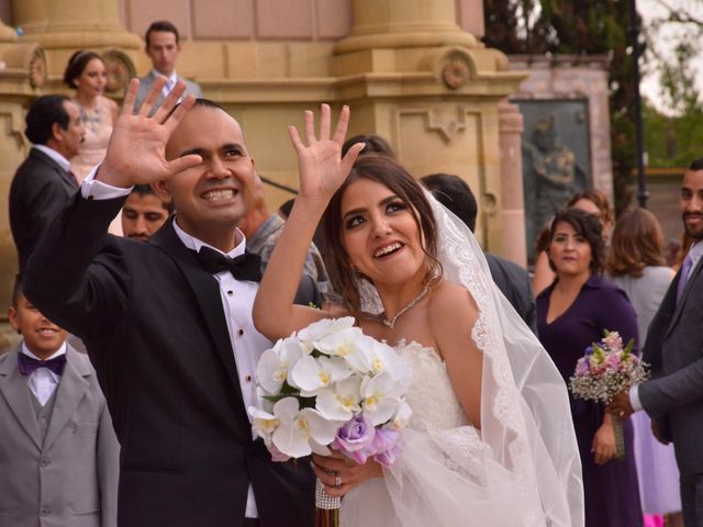
[(76, 412), (80, 401), (86, 396), (90, 383), (85, 378), (94, 374), (87, 365), (71, 360), (71, 355), (77, 352), (70, 346), (66, 350), (66, 367), (62, 380), (56, 386), (56, 400), (46, 430), (46, 439), (44, 439), (44, 449), (52, 447)]

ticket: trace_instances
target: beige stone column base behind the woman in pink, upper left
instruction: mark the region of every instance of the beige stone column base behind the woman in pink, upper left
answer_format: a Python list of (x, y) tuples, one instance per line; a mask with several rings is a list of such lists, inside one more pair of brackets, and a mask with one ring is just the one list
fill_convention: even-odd
[(118, 0), (12, 0), (21, 41), (38, 43), (46, 54), (49, 82), (58, 85), (77, 49), (112, 52), (130, 71), (142, 47), (120, 24)]

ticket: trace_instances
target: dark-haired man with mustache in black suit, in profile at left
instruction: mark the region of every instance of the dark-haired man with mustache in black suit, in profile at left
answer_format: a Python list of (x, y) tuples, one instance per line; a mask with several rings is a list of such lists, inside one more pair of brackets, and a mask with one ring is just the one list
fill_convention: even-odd
[(10, 228), (20, 272), (46, 226), (78, 189), (70, 159), (86, 130), (78, 106), (65, 96), (43, 96), (30, 106), (24, 134), (34, 146), (10, 186)]

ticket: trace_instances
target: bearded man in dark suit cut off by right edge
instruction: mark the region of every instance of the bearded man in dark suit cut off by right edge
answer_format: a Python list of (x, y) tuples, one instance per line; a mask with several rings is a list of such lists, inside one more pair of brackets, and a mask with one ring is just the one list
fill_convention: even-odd
[(694, 240), (655, 315), (643, 359), (651, 380), (615, 396), (609, 410), (621, 418), (644, 410), (657, 438), (673, 448), (681, 473), (687, 527), (703, 526), (703, 158), (689, 166), (680, 209)]

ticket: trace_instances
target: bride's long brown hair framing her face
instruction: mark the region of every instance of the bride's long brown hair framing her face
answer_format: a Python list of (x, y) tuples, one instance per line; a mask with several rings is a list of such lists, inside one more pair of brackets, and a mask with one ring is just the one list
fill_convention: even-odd
[(429, 264), (425, 282), (442, 274), (442, 266), (437, 260), (437, 223), (423, 188), (408, 170), (388, 156), (368, 154), (359, 157), (346, 181), (332, 197), (323, 216), (325, 266), (332, 289), (342, 295), (346, 307), (356, 316), (361, 313), (357, 283), (358, 280), (366, 280), (366, 277), (360, 277), (354, 271), (347, 251), (342, 245), (342, 198), (347, 187), (359, 179), (368, 179), (387, 187), (409, 205), (420, 231), (421, 242), (424, 240), (422, 249)]

